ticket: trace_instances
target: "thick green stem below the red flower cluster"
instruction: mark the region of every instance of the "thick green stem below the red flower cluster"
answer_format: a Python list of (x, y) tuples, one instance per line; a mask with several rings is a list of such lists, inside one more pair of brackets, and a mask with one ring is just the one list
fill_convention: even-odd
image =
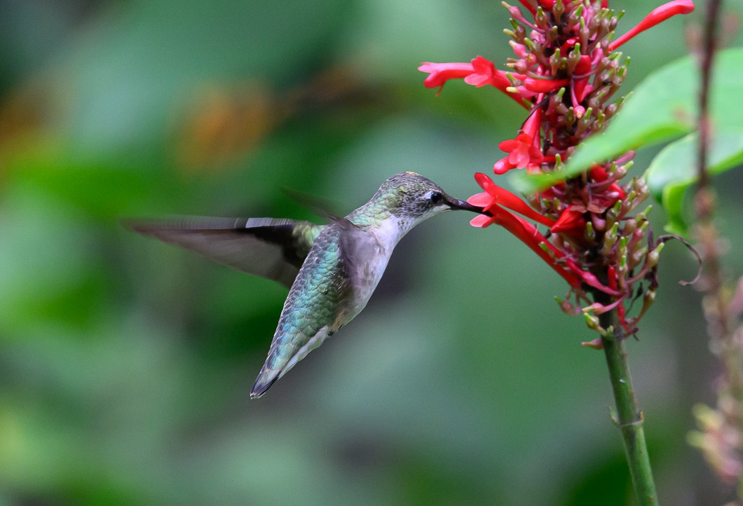
[(616, 311), (601, 314), (599, 322), (603, 328), (614, 329), (612, 333), (604, 334), (601, 341), (606, 354), (606, 365), (609, 366), (614, 403), (617, 405), (614, 422), (622, 434), (624, 453), (629, 464), (629, 474), (632, 476), (637, 503), (641, 506), (657, 506), (658, 493), (655, 492), (655, 481), (652, 479), (650, 457), (643, 431), (643, 414), (637, 406), (635, 390), (632, 389), (627, 353)]

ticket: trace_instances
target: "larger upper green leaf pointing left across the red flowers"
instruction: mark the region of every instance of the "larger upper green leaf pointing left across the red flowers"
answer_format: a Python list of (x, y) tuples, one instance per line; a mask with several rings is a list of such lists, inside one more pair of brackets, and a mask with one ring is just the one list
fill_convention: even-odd
[[(524, 192), (533, 192), (574, 177), (592, 163), (612, 160), (632, 149), (673, 140), (696, 129), (699, 72), (684, 57), (651, 74), (628, 97), (606, 131), (588, 138), (559, 171), (513, 176)], [(710, 113), (718, 132), (743, 129), (743, 115), (731, 106), (743, 102), (743, 48), (718, 53), (712, 80)]]

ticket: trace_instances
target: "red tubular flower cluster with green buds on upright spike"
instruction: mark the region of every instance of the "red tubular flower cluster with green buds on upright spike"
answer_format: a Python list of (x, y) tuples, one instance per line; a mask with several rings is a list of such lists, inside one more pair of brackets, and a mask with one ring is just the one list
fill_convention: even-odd
[[(559, 168), (581, 140), (602, 131), (621, 106), (622, 99), (609, 103), (627, 70), (621, 53), (614, 50), (669, 17), (694, 10), (691, 0), (671, 1), (611, 42), (617, 16), (607, 0), (519, 2), (529, 19), (519, 7), (503, 2), (513, 26), (504, 30), (513, 39), (510, 71), (496, 69), (482, 56), (470, 63), (424, 63), (418, 69), (429, 74), (424, 85), (439, 92), (448, 80), (463, 79), (478, 88), (491, 85), (528, 108), (516, 137), (499, 144), (507, 156), (494, 164), (496, 175)], [(655, 298), (662, 247), (652, 242), (646, 213), (631, 214), (647, 196), (644, 181), (620, 182), (633, 155), (596, 164), (577, 178), (528, 195), (528, 204), (478, 173), (475, 178), (484, 192), (469, 199), (490, 213), (474, 218), (474, 226), (501, 225), (556, 270), (581, 305), (589, 302), (583, 314), (592, 328), (603, 331), (594, 314), (616, 308), (627, 334), (636, 331), (635, 324)], [(545, 233), (539, 232), (539, 225), (547, 228)], [(638, 289), (643, 282), (649, 286)], [(640, 314), (627, 317), (625, 302), (641, 293)], [(600, 302), (590, 303), (588, 294)], [(568, 302), (562, 307), (580, 312)]]

